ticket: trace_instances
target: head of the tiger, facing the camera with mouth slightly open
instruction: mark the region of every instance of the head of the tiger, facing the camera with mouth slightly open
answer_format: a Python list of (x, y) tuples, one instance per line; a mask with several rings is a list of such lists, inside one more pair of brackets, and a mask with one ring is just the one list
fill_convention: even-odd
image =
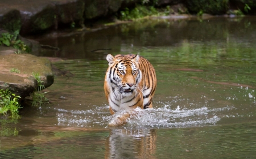
[(109, 68), (106, 73), (106, 80), (113, 90), (122, 96), (130, 96), (139, 87), (142, 79), (139, 70), (139, 55), (113, 55), (106, 57)]

